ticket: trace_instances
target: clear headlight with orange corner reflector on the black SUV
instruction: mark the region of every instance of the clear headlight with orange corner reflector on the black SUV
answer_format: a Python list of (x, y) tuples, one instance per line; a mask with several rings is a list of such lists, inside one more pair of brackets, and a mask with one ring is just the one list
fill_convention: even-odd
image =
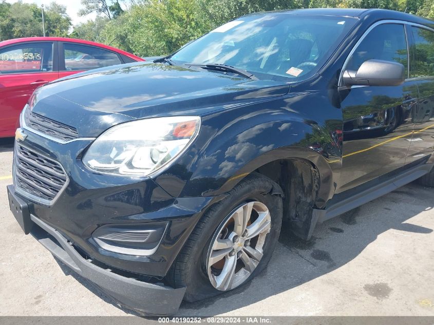
[(105, 131), (83, 163), (105, 174), (147, 176), (173, 161), (199, 132), (197, 116), (127, 122)]

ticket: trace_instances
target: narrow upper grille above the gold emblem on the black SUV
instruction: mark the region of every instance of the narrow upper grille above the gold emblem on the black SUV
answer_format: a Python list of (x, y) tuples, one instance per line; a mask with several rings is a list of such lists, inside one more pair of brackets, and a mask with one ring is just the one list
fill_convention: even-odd
[(76, 128), (33, 113), (30, 109), (26, 109), (24, 121), (26, 126), (62, 141), (70, 141), (79, 137)]

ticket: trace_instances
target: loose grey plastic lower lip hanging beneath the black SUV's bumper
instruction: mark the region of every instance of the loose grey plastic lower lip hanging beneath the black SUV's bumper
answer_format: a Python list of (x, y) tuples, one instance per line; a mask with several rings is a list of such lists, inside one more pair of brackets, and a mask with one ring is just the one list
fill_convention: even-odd
[(178, 310), (185, 288), (173, 289), (162, 283), (143, 282), (103, 269), (86, 260), (54, 228), (34, 215), (30, 218), (34, 222), (30, 234), (51, 254), (127, 309), (150, 316), (171, 315)]

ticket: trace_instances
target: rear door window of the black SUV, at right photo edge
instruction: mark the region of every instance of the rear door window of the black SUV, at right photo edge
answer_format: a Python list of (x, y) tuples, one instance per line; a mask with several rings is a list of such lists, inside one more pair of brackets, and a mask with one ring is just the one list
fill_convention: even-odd
[(416, 71), (411, 77), (434, 76), (434, 33), (418, 27), (412, 27), (416, 46)]

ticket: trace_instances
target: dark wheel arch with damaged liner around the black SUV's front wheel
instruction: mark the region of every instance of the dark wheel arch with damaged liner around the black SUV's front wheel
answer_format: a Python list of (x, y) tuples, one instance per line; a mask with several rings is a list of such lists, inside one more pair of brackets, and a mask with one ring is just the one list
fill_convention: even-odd
[(334, 193), (329, 163), (322, 155), (303, 147), (279, 148), (265, 156), (238, 170), (213, 194), (228, 192), (252, 173), (267, 176), (280, 186), (275, 193), (281, 191), (284, 220), (290, 224), (291, 231), (308, 240), (317, 221), (313, 218), (313, 209), (323, 208)]

